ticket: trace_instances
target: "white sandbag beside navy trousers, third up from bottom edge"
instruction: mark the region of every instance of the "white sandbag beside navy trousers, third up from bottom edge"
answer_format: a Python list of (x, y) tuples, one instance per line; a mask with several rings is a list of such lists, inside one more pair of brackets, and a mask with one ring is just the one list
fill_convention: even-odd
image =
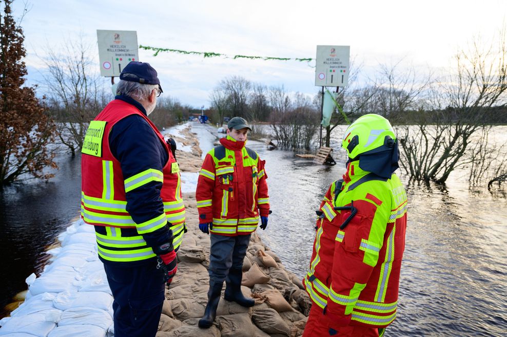
[(70, 308), (92, 307), (108, 310), (113, 302), (113, 296), (102, 291), (61, 292), (53, 300), (55, 308), (67, 310)]

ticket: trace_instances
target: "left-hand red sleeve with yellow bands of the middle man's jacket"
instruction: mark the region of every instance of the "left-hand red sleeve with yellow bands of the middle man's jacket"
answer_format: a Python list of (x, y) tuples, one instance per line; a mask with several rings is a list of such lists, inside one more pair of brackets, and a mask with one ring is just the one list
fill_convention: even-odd
[(208, 153), (204, 158), (201, 171), (199, 171), (199, 179), (197, 181), (196, 200), (200, 224), (213, 222), (211, 203), (213, 200), (215, 178), (215, 165), (213, 158)]

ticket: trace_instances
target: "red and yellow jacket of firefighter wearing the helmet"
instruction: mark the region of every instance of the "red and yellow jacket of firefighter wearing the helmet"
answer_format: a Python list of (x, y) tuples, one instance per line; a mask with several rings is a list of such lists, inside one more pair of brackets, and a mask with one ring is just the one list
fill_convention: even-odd
[[(386, 327), (396, 318), (400, 267), (405, 249), (405, 189), (396, 174), (384, 179), (349, 164), (344, 180), (333, 183), (321, 203), (322, 215), (310, 270), (303, 279), (327, 325)], [(357, 214), (340, 225), (351, 210)]]

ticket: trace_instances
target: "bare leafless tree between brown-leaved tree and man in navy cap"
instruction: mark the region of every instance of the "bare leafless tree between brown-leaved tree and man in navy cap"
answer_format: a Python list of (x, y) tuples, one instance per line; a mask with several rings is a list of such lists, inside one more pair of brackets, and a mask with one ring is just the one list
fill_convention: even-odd
[(92, 68), (91, 46), (83, 37), (66, 41), (64, 52), (48, 47), (48, 57), (43, 61), (48, 67), (44, 75), (49, 96), (49, 108), (59, 122), (57, 133), (60, 142), (75, 155), (81, 149), (89, 122), (108, 101), (100, 84), (100, 76)]

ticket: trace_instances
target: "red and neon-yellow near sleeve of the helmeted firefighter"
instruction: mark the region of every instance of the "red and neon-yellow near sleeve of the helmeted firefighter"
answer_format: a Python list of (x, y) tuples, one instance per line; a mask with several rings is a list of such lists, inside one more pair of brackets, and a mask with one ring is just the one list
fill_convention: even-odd
[[(325, 310), (328, 326), (334, 329), (348, 325), (352, 319), (359, 295), (377, 265), (391, 214), (388, 203), (365, 194), (362, 200), (354, 201), (358, 212), (343, 230), (338, 230), (335, 239), (332, 281)], [(343, 223), (349, 215), (349, 210), (342, 210), (337, 220)]]

